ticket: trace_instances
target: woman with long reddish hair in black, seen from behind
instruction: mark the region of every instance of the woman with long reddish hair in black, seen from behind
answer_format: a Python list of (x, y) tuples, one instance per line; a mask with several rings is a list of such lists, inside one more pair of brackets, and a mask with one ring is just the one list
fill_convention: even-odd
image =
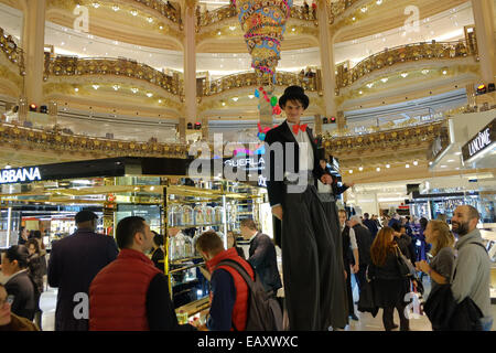
[(391, 227), (386, 226), (377, 233), (370, 247), (368, 277), (373, 280), (375, 304), (384, 310), (382, 323), (386, 331), (396, 328), (392, 321), (395, 308), (399, 313), (400, 330), (409, 331), (410, 322), (405, 315), (405, 295), (409, 289), (409, 279), (400, 272), (400, 249), (393, 239), (395, 231)]

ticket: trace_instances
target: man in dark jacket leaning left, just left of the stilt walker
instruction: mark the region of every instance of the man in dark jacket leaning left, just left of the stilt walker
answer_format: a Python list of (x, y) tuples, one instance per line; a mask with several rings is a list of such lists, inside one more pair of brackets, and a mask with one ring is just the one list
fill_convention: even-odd
[(272, 239), (257, 231), (254, 220), (242, 220), (240, 228), (245, 240), (250, 242), (248, 263), (254, 266), (260, 276), (263, 288), (276, 296), (282, 284), (278, 270), (276, 246)]

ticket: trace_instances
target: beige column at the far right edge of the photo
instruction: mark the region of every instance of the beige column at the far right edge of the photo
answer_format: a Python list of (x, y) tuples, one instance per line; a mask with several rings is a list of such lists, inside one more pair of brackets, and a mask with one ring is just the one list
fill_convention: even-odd
[(472, 0), (481, 73), (484, 83), (493, 83), (496, 73), (493, 0)]

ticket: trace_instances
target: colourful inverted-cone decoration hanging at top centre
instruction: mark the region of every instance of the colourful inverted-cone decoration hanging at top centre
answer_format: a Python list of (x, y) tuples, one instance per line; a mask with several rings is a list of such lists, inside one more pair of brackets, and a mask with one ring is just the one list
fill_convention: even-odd
[(276, 66), (281, 58), (282, 35), (285, 32), (293, 0), (231, 0), (245, 31), (245, 42), (260, 83), (276, 84)]

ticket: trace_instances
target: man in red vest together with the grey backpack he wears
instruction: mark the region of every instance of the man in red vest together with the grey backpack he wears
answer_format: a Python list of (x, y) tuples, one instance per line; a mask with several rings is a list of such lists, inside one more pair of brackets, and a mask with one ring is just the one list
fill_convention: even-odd
[(224, 248), (214, 231), (196, 239), (211, 277), (211, 331), (280, 330), (282, 314), (276, 299), (269, 298), (255, 270), (236, 248)]

